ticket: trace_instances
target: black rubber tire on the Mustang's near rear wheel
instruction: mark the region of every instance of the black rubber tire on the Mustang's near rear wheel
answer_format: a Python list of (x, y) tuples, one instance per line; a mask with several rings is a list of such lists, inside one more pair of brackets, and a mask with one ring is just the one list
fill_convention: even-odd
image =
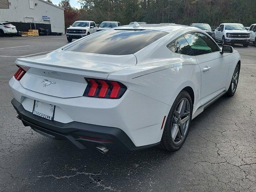
[[(173, 126), (173, 123), (175, 123), (175, 122), (173, 122), (173, 121), (175, 121), (174, 112), (176, 112), (176, 108), (178, 107), (178, 105), (180, 104), (180, 102), (183, 99), (186, 99), (186, 101), (189, 102), (190, 115), (187, 116), (187, 117), (189, 117), (189, 122), (186, 124), (187, 128), (186, 128), (186, 132), (184, 132), (184, 136), (182, 137), (182, 140), (180, 140), (180, 143), (175, 144), (175, 142), (172, 139), (172, 128), (173, 128), (172, 126)], [(193, 105), (192, 105), (192, 100), (191, 100), (190, 94), (188, 94), (188, 92), (186, 92), (186, 91), (180, 92), (178, 94), (178, 96), (176, 97), (176, 99), (171, 107), (171, 110), (167, 116), (166, 123), (164, 126), (164, 131), (162, 134), (162, 139), (159, 144), (160, 148), (162, 148), (164, 150), (168, 150), (168, 151), (176, 151), (181, 148), (181, 146), (183, 145), (183, 143), (185, 142), (185, 140), (188, 136), (188, 132), (189, 132), (190, 124), (191, 124), (191, 120), (192, 120), (192, 111), (193, 111)], [(180, 130), (180, 127), (178, 127), (177, 129)], [(177, 134), (177, 136), (178, 136), (178, 134)]]

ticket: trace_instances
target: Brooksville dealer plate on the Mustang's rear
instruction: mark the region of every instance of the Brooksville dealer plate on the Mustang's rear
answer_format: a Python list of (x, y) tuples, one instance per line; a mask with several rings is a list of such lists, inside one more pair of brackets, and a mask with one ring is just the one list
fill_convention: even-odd
[(55, 106), (35, 100), (33, 114), (48, 120), (53, 120)]

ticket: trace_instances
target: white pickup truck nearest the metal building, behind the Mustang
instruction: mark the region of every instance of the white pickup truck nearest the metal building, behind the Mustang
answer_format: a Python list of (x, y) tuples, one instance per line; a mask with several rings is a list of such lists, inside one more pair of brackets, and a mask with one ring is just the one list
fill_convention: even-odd
[(68, 42), (72, 42), (72, 39), (79, 39), (95, 33), (96, 29), (97, 27), (94, 21), (76, 21), (72, 26), (67, 28), (67, 40)]

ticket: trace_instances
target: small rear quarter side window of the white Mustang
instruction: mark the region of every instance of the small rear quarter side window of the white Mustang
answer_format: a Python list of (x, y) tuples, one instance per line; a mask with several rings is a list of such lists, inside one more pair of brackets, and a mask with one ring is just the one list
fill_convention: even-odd
[(181, 38), (178, 38), (174, 42), (171, 42), (167, 45), (168, 49), (170, 49), (172, 52), (184, 54), (184, 55), (194, 55), (188, 42), (186, 39), (182, 36)]

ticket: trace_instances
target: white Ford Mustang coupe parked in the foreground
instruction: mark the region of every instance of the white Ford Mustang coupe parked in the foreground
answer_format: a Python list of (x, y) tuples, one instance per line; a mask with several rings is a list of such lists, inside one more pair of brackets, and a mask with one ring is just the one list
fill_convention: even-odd
[(9, 84), (24, 126), (80, 149), (178, 150), (193, 118), (234, 95), (240, 55), (204, 31), (127, 25), (15, 61)]

